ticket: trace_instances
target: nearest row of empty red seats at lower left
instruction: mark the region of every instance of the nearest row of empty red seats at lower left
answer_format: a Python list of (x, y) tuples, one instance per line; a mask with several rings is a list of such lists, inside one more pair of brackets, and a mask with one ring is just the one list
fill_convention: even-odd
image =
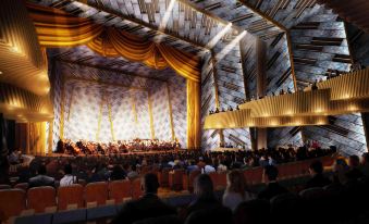
[[(24, 210), (42, 213), (49, 210), (63, 211), (69, 208), (85, 208), (88, 204), (102, 206), (111, 200), (121, 203), (124, 200), (137, 199), (143, 195), (140, 179), (98, 182), (85, 187), (75, 184), (65, 187), (35, 187), (23, 189), (0, 190), (0, 220), (19, 215)], [(11, 201), (11, 203), (9, 203)]]

